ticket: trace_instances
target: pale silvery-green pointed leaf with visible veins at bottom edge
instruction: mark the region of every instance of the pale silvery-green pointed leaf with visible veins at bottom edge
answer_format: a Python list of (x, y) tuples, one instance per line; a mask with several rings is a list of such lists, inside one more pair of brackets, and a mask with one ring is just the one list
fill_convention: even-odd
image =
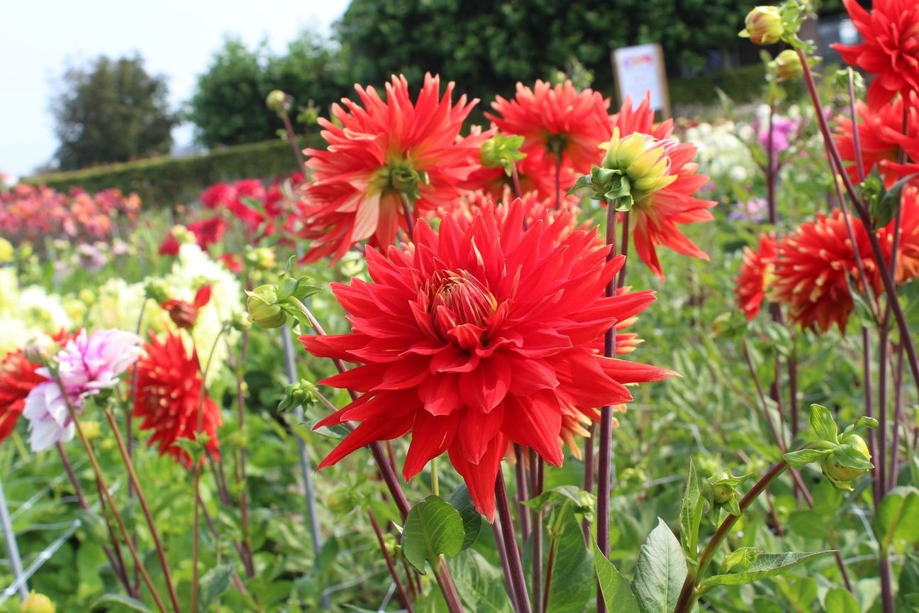
[(674, 533), (664, 520), (657, 518), (657, 528), (641, 545), (632, 589), (638, 596), (642, 613), (669, 613), (686, 580), (686, 557)]

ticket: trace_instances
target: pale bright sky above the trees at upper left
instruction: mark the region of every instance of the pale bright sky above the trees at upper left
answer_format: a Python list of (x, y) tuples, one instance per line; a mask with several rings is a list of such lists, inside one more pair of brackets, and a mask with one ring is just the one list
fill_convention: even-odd
[[(49, 110), (70, 66), (99, 55), (140, 53), (148, 74), (166, 76), (171, 108), (194, 93), (226, 35), (254, 49), (267, 40), (284, 53), (303, 29), (323, 35), (348, 0), (11, 0), (0, 17), (0, 172), (27, 176), (58, 147)], [(176, 145), (191, 142), (192, 127), (173, 131)]]

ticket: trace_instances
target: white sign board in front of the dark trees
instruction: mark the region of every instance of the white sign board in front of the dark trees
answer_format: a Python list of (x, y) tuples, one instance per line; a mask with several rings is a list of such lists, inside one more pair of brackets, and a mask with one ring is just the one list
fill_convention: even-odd
[(670, 116), (670, 98), (667, 95), (661, 45), (650, 43), (614, 50), (613, 67), (620, 103), (626, 96), (632, 96), (635, 104), (639, 104), (651, 92), (651, 108)]

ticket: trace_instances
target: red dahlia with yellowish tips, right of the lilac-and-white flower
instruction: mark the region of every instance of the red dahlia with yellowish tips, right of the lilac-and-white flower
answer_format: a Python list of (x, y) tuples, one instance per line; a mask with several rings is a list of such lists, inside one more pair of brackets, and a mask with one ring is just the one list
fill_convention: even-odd
[(133, 414), (143, 419), (142, 430), (153, 430), (147, 444), (158, 443), (161, 456), (168, 453), (188, 468), (191, 456), (173, 443), (180, 438), (194, 440), (200, 431), (210, 437), (208, 450), (219, 457), (217, 427), (222, 425), (221, 410), (210, 396), (201, 397), (203, 380), (198, 353), (193, 350), (189, 355), (182, 337), (172, 332), (166, 333), (163, 343), (151, 335), (143, 348), (147, 355), (137, 361)]

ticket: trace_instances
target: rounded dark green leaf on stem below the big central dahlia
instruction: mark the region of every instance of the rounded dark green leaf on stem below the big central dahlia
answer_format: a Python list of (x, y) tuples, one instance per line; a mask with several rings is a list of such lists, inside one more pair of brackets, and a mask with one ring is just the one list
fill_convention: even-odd
[(433, 564), (441, 553), (448, 556), (459, 553), (463, 540), (465, 532), (459, 511), (440, 496), (427, 496), (405, 518), (403, 555), (419, 573), (425, 574), (425, 561)]

